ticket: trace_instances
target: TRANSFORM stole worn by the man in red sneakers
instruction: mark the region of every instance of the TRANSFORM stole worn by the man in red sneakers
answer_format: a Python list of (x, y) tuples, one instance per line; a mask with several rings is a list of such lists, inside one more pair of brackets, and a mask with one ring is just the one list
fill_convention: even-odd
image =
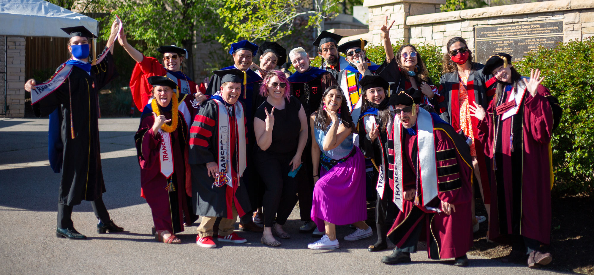
[[(241, 101), (238, 101), (233, 104), (233, 106), (229, 107), (233, 108), (233, 111), (235, 112), (235, 120), (237, 122), (236, 133), (238, 137), (238, 146), (236, 148), (238, 151), (238, 160), (232, 160), (230, 144), (231, 142), (236, 141), (231, 140), (229, 127), (234, 126), (230, 125), (229, 112), (225, 102), (218, 101), (217, 99), (213, 99), (213, 101), (216, 102), (219, 110), (219, 118), (217, 120), (219, 122), (219, 129), (217, 131), (217, 151), (219, 151), (219, 158), (217, 159), (217, 162), (219, 165), (219, 176), (217, 176), (214, 185), (223, 186), (224, 184), (227, 184), (230, 187), (233, 187), (233, 180), (231, 179), (232, 174), (230, 173), (232, 169), (231, 165), (233, 164), (232, 161), (237, 161), (236, 163), (238, 164), (239, 168), (238, 178), (241, 178), (241, 176), (244, 174), (245, 168), (247, 167), (244, 106)], [(219, 181), (221, 184), (217, 184), (217, 181)]]

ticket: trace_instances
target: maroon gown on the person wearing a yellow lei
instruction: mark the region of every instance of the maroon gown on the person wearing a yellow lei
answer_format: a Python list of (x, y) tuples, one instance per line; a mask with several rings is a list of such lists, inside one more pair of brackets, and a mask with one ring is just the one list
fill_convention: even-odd
[[(151, 208), (155, 229), (168, 230), (171, 233), (184, 231), (184, 221), (191, 224), (192, 212), (188, 199), (192, 195), (192, 184), (188, 164), (188, 124), (186, 117), (191, 115), (194, 108), (191, 98), (181, 95), (179, 105), (184, 104), (189, 112), (182, 112), (178, 108), (178, 127), (170, 133), (173, 159), (173, 174), (170, 180), (161, 173), (160, 146), (162, 136), (154, 135), (153, 108), (151, 104), (144, 107), (140, 118), (140, 126), (134, 135), (138, 164), (140, 164), (140, 186), (143, 198)], [(161, 111), (167, 119), (171, 119), (169, 112)], [(188, 117), (188, 119), (191, 119)], [(166, 186), (172, 182), (175, 190), (167, 190)], [(185, 220), (183, 219), (185, 217)]]

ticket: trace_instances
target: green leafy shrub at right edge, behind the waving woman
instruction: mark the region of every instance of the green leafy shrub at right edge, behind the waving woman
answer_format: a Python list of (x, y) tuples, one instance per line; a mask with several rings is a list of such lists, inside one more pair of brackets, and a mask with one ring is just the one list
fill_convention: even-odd
[(553, 133), (555, 189), (562, 193), (594, 190), (594, 38), (571, 41), (556, 48), (539, 48), (515, 63), (522, 76), (538, 68), (542, 85), (557, 96), (563, 116)]

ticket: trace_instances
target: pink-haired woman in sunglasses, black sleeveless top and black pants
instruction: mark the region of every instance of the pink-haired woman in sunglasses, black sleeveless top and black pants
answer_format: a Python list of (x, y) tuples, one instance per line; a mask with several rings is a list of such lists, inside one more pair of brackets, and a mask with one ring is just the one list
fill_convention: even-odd
[[(289, 176), (301, 165), (301, 154), (307, 142), (308, 128), (301, 102), (289, 95), (289, 80), (281, 71), (264, 76), (260, 95), (266, 97), (254, 117), (258, 143), (255, 165), (264, 181), (264, 233), (261, 242), (279, 246), (274, 236), (288, 239), (283, 230), (296, 202), (297, 182)], [(293, 171), (294, 173), (296, 171)], [(276, 224), (274, 224), (276, 217)]]

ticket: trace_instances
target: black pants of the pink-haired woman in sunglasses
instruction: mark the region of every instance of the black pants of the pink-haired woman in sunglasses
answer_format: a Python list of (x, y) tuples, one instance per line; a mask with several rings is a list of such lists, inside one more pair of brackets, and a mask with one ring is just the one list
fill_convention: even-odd
[[(295, 154), (270, 154), (258, 151), (255, 165), (264, 182), (264, 226), (272, 227), (276, 223), (283, 225), (289, 218), (297, 198), (297, 179), (290, 177), (289, 162)], [(310, 199), (311, 201), (311, 199)], [(301, 204), (299, 204), (301, 207)], [(310, 205), (311, 208), (311, 205)]]

